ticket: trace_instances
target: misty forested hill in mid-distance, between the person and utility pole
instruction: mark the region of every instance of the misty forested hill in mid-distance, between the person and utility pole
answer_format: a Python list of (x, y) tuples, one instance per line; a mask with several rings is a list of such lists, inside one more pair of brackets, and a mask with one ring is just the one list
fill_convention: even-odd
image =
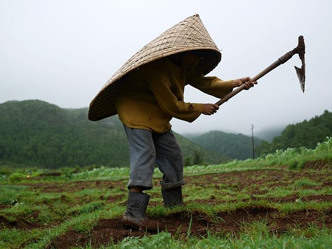
[[(210, 131), (189, 139), (207, 150), (215, 151), (225, 157), (239, 160), (252, 158), (252, 139), (243, 134)], [(258, 146), (260, 141), (262, 140), (254, 138), (254, 146)]]

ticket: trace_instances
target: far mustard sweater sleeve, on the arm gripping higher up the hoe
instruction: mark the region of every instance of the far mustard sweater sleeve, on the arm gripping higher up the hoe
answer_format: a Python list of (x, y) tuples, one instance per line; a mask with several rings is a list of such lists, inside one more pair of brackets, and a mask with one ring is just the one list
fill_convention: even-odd
[(186, 83), (218, 98), (223, 98), (233, 90), (233, 80), (223, 81), (218, 77), (204, 77), (197, 68), (193, 68), (187, 73)]

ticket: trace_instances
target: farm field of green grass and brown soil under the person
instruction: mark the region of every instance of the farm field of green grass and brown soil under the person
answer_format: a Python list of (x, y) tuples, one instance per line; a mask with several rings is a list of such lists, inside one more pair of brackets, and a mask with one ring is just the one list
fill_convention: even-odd
[[(156, 169), (148, 216), (124, 227), (128, 168), (20, 169), (0, 179), (0, 248), (330, 248), (332, 139), (255, 160), (184, 169), (185, 206), (165, 209)], [(27, 177), (28, 176), (28, 177)]]

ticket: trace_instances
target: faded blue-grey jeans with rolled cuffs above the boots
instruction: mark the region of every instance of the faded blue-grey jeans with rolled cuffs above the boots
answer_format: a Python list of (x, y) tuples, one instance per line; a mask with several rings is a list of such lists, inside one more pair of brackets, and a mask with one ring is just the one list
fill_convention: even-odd
[(163, 190), (184, 185), (183, 155), (172, 130), (153, 133), (144, 129), (129, 128), (124, 125), (130, 154), (130, 178), (128, 189), (152, 189), (155, 165), (162, 172), (160, 182)]

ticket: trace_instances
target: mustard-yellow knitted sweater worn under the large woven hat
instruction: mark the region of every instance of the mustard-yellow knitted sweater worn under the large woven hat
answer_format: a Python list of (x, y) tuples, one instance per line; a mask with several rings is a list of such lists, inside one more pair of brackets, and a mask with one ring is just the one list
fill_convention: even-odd
[(186, 84), (222, 98), (232, 82), (204, 77), (196, 68), (185, 70), (164, 58), (128, 73), (119, 84), (115, 106), (127, 127), (164, 133), (171, 129), (172, 117), (192, 122), (203, 111), (203, 104), (183, 101)]

